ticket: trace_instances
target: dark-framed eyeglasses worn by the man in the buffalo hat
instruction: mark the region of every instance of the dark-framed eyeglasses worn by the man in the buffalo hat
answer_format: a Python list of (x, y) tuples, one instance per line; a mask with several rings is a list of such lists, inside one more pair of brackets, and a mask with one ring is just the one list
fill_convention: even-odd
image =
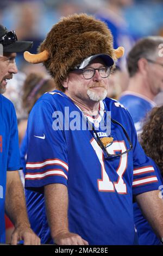
[(83, 72), (83, 77), (85, 79), (91, 79), (93, 76), (95, 76), (95, 72), (98, 70), (99, 75), (102, 78), (106, 78), (110, 75), (111, 66), (102, 66), (99, 69), (94, 68), (84, 68), (84, 69), (73, 69), (72, 72)]

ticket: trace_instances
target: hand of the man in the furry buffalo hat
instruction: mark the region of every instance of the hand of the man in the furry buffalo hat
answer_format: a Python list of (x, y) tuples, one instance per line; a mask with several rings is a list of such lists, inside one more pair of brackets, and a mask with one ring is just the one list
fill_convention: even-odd
[(54, 237), (57, 245), (89, 245), (81, 236), (74, 233), (60, 233)]

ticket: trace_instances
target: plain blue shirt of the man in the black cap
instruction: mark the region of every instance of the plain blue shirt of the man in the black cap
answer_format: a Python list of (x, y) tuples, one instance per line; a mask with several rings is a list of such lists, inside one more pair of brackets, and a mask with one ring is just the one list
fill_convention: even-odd
[(17, 119), (14, 105), (0, 94), (0, 243), (5, 242), (5, 191), (7, 170), (21, 167), (18, 148)]

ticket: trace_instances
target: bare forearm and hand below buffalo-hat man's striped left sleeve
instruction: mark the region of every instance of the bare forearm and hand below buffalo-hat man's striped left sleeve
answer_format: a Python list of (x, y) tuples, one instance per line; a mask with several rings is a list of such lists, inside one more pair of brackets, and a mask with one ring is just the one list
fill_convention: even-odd
[(44, 188), (45, 204), (51, 236), (57, 245), (88, 245), (81, 236), (68, 230), (68, 191), (63, 184), (49, 184)]

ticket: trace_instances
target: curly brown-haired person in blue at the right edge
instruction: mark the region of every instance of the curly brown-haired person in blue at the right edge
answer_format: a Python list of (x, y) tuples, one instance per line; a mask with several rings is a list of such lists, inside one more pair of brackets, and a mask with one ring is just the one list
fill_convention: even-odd
[[(141, 134), (141, 145), (147, 156), (151, 157), (155, 165), (156, 175), (160, 176), (161, 186), (159, 197), (162, 198), (163, 188), (163, 105), (154, 107), (149, 113)], [(139, 239), (139, 245), (160, 245), (160, 240), (154, 233), (151, 225), (142, 215), (138, 205), (134, 203), (134, 220)]]

